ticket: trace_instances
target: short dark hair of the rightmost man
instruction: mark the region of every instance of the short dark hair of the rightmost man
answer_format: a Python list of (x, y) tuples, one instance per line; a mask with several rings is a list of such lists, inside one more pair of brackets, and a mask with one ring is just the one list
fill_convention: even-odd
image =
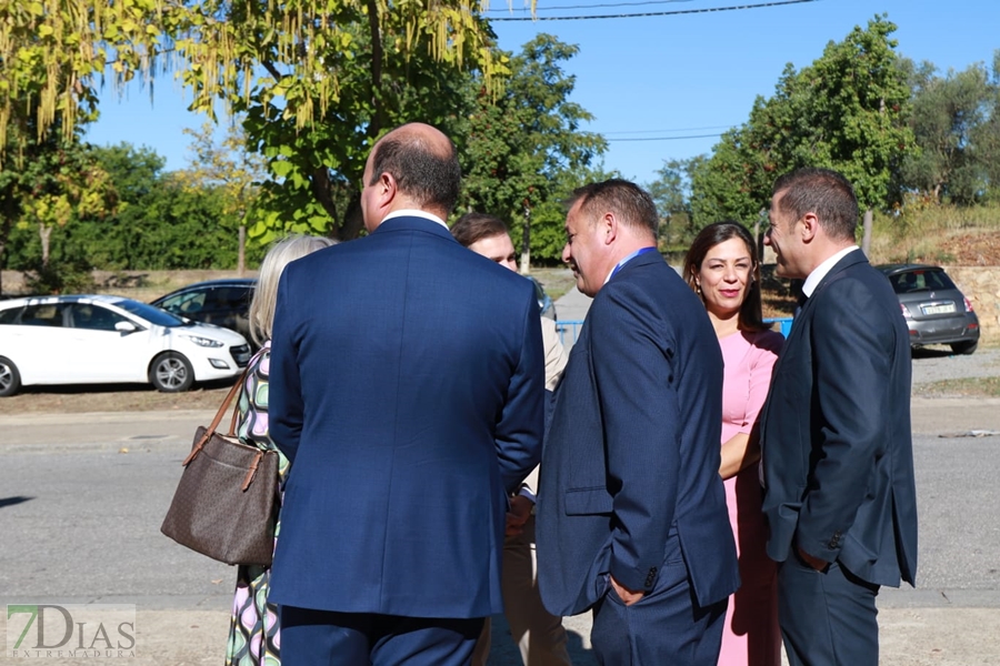
[(830, 169), (797, 169), (774, 182), (772, 194), (781, 194), (778, 210), (800, 220), (816, 213), (831, 239), (854, 238), (858, 228), (858, 199), (850, 181)]

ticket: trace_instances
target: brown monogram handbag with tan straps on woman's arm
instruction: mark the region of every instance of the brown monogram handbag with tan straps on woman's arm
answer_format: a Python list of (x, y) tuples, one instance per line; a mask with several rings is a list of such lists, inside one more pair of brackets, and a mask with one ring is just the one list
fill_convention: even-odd
[(198, 426), (191, 453), (160, 532), (226, 564), (268, 566), (274, 549), (278, 453), (216, 432), (247, 373), (230, 390), (208, 428)]

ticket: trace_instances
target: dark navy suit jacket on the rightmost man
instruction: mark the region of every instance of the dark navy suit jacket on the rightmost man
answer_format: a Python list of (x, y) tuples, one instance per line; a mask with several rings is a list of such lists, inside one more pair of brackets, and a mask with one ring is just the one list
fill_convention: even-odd
[(772, 559), (799, 546), (869, 583), (913, 583), (910, 366), (889, 281), (847, 254), (796, 317), (761, 413)]

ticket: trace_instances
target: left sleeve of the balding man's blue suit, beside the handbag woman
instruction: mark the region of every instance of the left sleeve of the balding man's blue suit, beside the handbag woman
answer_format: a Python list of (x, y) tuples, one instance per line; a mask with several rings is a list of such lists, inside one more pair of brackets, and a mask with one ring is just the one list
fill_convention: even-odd
[(302, 434), (303, 403), (289, 282), (289, 271), (286, 270), (278, 284), (278, 303), (271, 334), (268, 417), (271, 440), (289, 462), (294, 462)]

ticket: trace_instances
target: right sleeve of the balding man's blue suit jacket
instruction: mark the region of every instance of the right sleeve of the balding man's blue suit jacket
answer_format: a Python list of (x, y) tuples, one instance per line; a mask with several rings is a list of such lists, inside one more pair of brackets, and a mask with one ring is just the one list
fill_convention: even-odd
[(520, 355), (497, 423), (497, 457), (508, 493), (514, 493), (541, 460), (546, 369), (538, 306), (533, 293), (530, 295), (524, 309)]

